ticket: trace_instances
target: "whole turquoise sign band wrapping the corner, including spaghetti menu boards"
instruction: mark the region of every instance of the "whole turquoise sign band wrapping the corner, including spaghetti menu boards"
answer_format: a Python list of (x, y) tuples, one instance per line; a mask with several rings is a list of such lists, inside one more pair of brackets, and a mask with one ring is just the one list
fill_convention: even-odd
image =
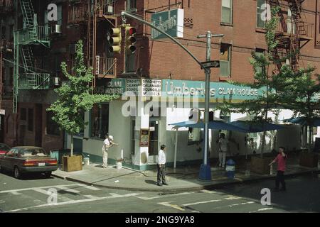
[[(95, 87), (96, 94), (118, 94), (132, 92), (141, 96), (166, 96), (182, 99), (198, 98), (204, 101), (205, 82), (176, 79), (111, 79), (107, 84)], [(225, 82), (210, 82), (210, 101), (244, 101), (262, 96), (263, 89), (241, 87)]]

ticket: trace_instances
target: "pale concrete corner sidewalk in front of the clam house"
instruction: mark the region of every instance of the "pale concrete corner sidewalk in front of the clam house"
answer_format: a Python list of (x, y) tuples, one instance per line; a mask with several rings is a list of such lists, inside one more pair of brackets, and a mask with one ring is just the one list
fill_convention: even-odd
[[(250, 165), (250, 164), (249, 164)], [(115, 165), (110, 165), (103, 169), (99, 164), (84, 165), (81, 171), (64, 172), (57, 170), (53, 176), (68, 179), (74, 182), (81, 182), (97, 187), (107, 187), (110, 189), (126, 189), (131, 191), (151, 191), (151, 192), (187, 192), (201, 189), (213, 189), (223, 187), (228, 184), (238, 184), (252, 182), (262, 179), (272, 179), (273, 175), (258, 175), (250, 171), (249, 165), (240, 165), (235, 172), (235, 179), (228, 179), (225, 170), (219, 167), (211, 167), (212, 180), (203, 182), (198, 179), (200, 166), (185, 166), (166, 168), (166, 182), (168, 186), (159, 187), (156, 185), (156, 169), (138, 171), (127, 167), (116, 169)], [(215, 166), (214, 163), (212, 166)], [(299, 166), (297, 160), (287, 163), (285, 176), (303, 175), (307, 173), (320, 173), (320, 167), (308, 168)]]

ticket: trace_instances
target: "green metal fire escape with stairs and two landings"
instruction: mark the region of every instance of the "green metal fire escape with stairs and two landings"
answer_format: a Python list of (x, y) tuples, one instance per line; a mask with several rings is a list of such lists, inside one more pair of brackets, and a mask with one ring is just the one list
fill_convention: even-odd
[(31, 0), (20, 0), (23, 28), (14, 32), (14, 113), (16, 113), (19, 89), (48, 89), (50, 74), (36, 72), (33, 47), (50, 48), (49, 32), (38, 26), (37, 15)]

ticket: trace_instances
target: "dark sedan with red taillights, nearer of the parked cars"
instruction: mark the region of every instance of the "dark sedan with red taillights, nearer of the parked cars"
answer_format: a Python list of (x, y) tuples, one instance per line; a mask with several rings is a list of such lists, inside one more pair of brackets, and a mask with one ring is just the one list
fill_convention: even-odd
[(0, 155), (0, 169), (14, 171), (14, 177), (21, 178), (26, 172), (41, 172), (50, 177), (58, 170), (58, 162), (43, 148), (14, 147)]

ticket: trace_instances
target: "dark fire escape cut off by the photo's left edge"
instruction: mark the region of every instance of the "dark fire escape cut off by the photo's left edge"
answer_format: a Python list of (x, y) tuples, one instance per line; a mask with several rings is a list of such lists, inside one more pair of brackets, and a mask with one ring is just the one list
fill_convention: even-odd
[[(0, 19), (5, 18), (14, 11), (13, 0), (0, 0)], [(5, 34), (2, 34), (4, 38), (0, 38), (0, 102), (4, 95), (4, 84), (3, 84), (3, 70), (4, 69), (4, 57), (7, 53), (11, 53), (13, 49), (13, 43), (11, 40), (6, 40)]]

